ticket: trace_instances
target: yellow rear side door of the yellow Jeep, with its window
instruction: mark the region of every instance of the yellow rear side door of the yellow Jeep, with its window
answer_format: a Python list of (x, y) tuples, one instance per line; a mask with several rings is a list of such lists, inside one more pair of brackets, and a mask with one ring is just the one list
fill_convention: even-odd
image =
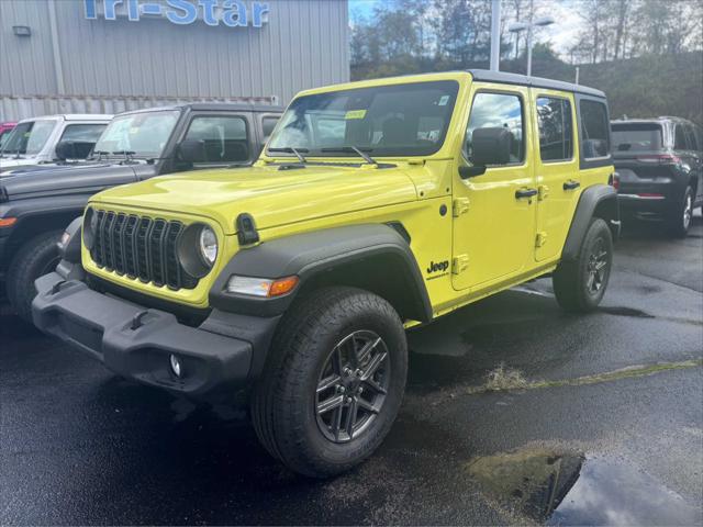
[(533, 89), (538, 141), (534, 145), (537, 182), (535, 260), (557, 258), (581, 191), (574, 153), (576, 108), (567, 92)]

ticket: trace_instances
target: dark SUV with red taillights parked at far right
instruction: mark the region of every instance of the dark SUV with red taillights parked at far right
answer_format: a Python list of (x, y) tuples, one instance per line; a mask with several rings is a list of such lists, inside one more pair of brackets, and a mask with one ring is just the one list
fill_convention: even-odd
[(613, 121), (613, 158), (625, 217), (665, 221), (683, 237), (703, 205), (703, 134), (680, 117)]

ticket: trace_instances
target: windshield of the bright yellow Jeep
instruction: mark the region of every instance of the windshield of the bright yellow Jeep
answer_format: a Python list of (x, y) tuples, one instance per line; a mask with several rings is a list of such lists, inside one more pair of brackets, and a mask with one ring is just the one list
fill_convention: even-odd
[[(437, 152), (451, 119), (454, 80), (357, 88), (295, 99), (268, 143), (310, 156), (426, 156)], [(288, 155), (291, 153), (289, 152)]]

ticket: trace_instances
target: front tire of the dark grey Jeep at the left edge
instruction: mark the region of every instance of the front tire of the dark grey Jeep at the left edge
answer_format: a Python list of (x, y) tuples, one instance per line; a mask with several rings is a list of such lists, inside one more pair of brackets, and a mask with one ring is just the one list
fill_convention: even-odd
[(26, 242), (16, 253), (5, 281), (8, 300), (13, 311), (25, 322), (32, 322), (32, 301), (36, 296), (34, 280), (52, 271), (58, 264), (58, 248), (63, 231), (40, 234)]

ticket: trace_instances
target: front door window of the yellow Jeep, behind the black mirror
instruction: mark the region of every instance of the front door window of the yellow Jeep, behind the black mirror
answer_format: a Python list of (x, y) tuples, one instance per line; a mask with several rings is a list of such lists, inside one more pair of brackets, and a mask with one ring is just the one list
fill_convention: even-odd
[(464, 142), (464, 155), (471, 161), (473, 131), (503, 127), (513, 135), (510, 160), (525, 159), (523, 103), (518, 96), (507, 93), (477, 93), (473, 98), (469, 125)]

